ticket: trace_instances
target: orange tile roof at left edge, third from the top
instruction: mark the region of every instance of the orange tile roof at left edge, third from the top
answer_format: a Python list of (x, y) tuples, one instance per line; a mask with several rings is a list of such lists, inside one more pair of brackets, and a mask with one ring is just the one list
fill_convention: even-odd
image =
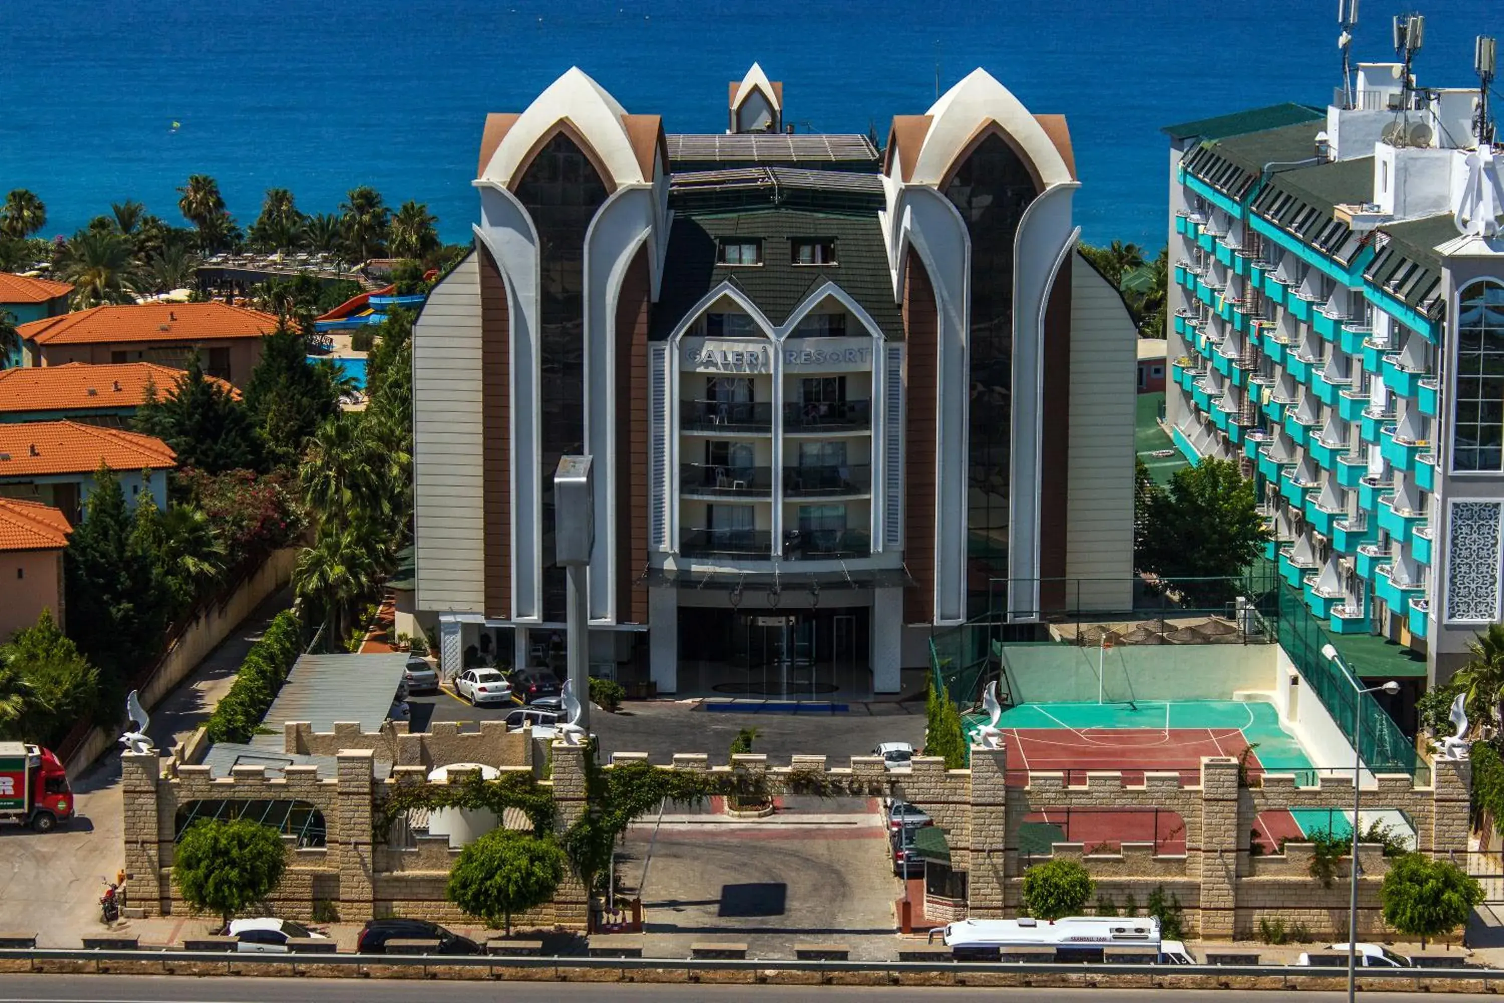
[[(146, 385), (158, 395), (171, 392), (186, 376), (185, 370), (155, 362), (111, 362), (90, 365), (41, 365), (0, 370), (0, 412), (84, 411), (89, 408), (140, 408)], [(218, 377), (208, 377), (239, 397), (241, 391)]]

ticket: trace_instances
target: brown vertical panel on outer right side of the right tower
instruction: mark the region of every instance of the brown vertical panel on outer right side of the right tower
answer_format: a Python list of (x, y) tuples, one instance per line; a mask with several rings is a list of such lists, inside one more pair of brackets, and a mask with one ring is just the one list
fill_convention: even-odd
[(1039, 608), (1066, 601), (1066, 511), (1071, 493), (1071, 259), (1060, 265), (1044, 316), (1044, 429), (1039, 436)]

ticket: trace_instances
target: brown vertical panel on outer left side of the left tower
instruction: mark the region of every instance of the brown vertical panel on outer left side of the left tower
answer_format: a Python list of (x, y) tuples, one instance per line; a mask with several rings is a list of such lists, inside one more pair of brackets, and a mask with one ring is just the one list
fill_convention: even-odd
[(511, 618), (511, 328), (507, 283), (480, 248), (481, 475), (486, 615)]

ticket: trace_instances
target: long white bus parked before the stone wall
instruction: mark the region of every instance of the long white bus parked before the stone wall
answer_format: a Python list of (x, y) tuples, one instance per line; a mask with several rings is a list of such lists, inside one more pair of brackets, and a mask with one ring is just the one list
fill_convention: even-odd
[(963, 919), (929, 931), (952, 949), (1054, 947), (1057, 961), (1101, 959), (1104, 947), (1152, 947), (1158, 964), (1193, 965), (1196, 959), (1178, 940), (1160, 940), (1160, 920), (1149, 916), (1066, 916), (1039, 919)]

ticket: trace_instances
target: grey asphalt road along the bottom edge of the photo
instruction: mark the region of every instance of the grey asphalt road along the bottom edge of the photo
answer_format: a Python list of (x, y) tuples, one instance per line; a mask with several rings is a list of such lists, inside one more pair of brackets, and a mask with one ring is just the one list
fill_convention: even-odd
[[(1236, 995), (1253, 995), (1248, 992)], [(8, 974), (0, 982), (0, 1003), (495, 1003), (507, 998), (526, 1003), (552, 1000), (716, 1000), (717, 1003), (794, 1003), (802, 1000), (957, 1000), (958, 1003), (996, 1003), (1000, 998), (1039, 1000), (1041, 1003), (1229, 1003), (1227, 989), (910, 989), (869, 986), (740, 986), (740, 985), (663, 985), (590, 982), (423, 982), (378, 979), (191, 979), (158, 976), (29, 976)], [(1262, 1000), (1299, 1000), (1337, 1003), (1343, 992), (1259, 992)], [(1385, 1003), (1435, 1003), (1430, 992), (1385, 992)], [(1445, 1000), (1493, 1000), (1492, 995), (1445, 995)]]

